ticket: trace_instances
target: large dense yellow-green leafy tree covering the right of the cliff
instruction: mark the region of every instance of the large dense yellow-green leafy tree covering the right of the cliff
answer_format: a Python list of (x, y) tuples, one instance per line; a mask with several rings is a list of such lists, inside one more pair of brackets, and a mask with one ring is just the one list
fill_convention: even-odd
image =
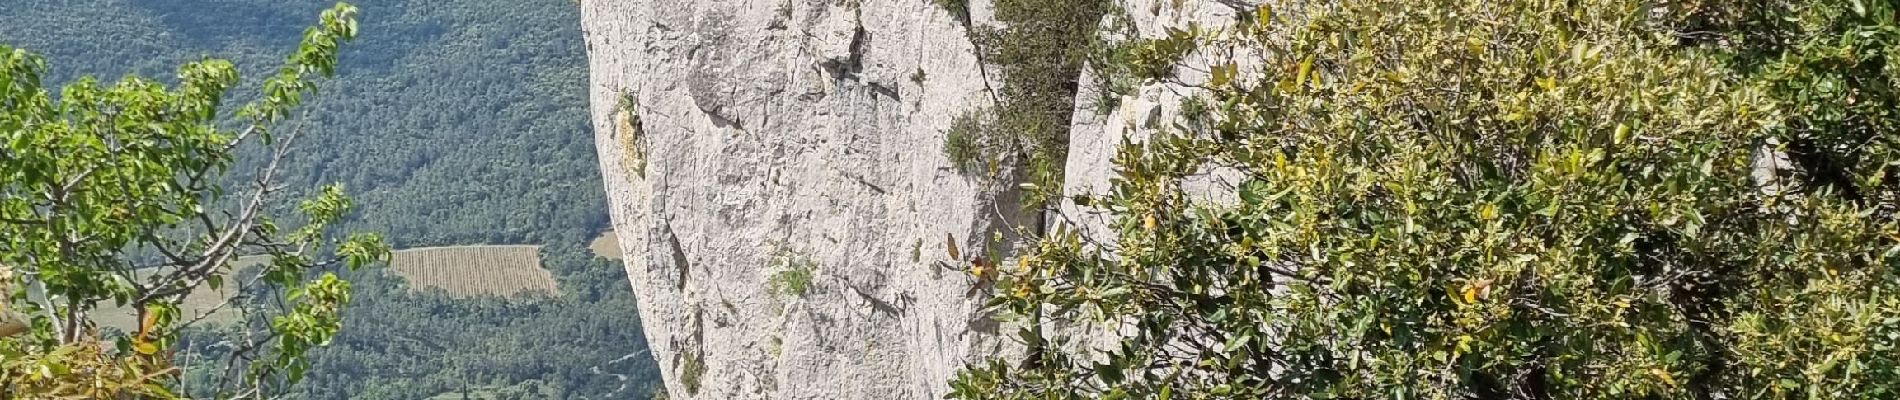
[(1892, 2), (1300, 4), (1125, 44), (1205, 91), (952, 398), (1900, 396)]

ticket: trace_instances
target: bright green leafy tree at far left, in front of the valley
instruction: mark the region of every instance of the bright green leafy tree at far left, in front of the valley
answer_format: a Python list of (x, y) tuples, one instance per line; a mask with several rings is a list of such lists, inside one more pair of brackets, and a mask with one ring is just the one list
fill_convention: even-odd
[[(171, 398), (180, 387), (169, 349), (205, 317), (179, 303), (226, 281), (241, 292), (226, 307), (258, 324), (228, 337), (226, 360), (211, 364), (224, 368), (215, 387), (188, 391), (256, 396), (302, 377), (304, 353), (336, 334), (350, 300), (331, 271), (390, 252), (369, 233), (331, 239), (327, 226), (352, 209), (340, 186), (274, 218), (285, 209), (279, 161), (304, 136), (293, 112), (353, 36), (353, 6), (323, 11), (256, 100), (236, 110), (224, 108), (238, 85), (228, 61), (190, 63), (169, 89), (82, 78), (55, 97), (42, 89), (42, 59), (0, 47), (0, 294), (27, 318), (0, 337), (0, 392)], [(268, 161), (226, 174), (241, 150)], [(239, 256), (270, 262), (234, 273)], [(101, 334), (89, 313), (103, 305), (133, 307), (141, 328)]]

